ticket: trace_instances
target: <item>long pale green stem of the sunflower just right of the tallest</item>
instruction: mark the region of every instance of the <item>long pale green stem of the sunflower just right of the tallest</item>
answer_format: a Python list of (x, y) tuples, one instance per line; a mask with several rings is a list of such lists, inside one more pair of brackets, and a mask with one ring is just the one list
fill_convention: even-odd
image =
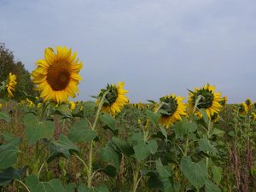
[[(101, 99), (101, 102), (99, 103), (99, 107), (98, 107), (98, 110), (96, 112), (96, 118), (94, 120), (94, 123), (91, 127), (91, 131), (95, 131), (96, 130), (96, 123), (100, 117), (100, 114), (101, 114), (101, 110), (102, 110), (102, 106), (104, 104), (104, 100), (105, 100), (105, 97), (107, 96), (108, 94), (108, 91), (106, 91), (103, 96), (102, 96), (102, 99)], [(92, 153), (93, 153), (93, 140), (90, 142), (90, 148), (89, 148), (89, 162), (88, 162), (88, 172), (87, 172), (87, 186), (90, 188), (91, 187), (91, 180), (92, 180)]]

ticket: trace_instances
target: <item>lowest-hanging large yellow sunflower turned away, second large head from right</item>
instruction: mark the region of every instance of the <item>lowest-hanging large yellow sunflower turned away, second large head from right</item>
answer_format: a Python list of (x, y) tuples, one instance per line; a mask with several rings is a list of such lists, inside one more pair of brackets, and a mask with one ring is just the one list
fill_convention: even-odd
[(161, 107), (158, 112), (160, 113), (159, 123), (169, 128), (177, 120), (181, 120), (181, 115), (187, 115), (186, 106), (182, 102), (181, 96), (163, 96), (160, 98)]

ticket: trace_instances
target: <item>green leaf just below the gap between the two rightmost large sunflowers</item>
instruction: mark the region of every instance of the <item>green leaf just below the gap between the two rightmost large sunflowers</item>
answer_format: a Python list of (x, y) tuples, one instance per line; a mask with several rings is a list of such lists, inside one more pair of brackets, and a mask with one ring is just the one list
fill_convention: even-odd
[(174, 124), (173, 129), (177, 138), (183, 138), (189, 133), (195, 132), (197, 130), (197, 124), (195, 122), (190, 123), (187, 119), (184, 119)]

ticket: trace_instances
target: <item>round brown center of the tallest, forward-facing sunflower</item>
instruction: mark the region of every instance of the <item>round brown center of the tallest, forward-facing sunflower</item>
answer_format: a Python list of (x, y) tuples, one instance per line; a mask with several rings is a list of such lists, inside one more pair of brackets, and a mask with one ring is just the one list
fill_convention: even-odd
[(67, 63), (56, 62), (50, 66), (46, 80), (52, 90), (64, 90), (70, 81)]

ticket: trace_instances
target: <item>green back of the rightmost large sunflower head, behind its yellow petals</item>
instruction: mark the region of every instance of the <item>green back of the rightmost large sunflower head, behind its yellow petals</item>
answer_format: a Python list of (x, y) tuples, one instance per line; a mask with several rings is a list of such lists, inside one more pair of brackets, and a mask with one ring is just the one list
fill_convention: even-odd
[(196, 94), (192, 97), (193, 104), (195, 105), (195, 100), (198, 96), (201, 96), (201, 100), (197, 105), (197, 108), (210, 108), (212, 107), (212, 102), (214, 99), (212, 90), (201, 89), (196, 92)]

